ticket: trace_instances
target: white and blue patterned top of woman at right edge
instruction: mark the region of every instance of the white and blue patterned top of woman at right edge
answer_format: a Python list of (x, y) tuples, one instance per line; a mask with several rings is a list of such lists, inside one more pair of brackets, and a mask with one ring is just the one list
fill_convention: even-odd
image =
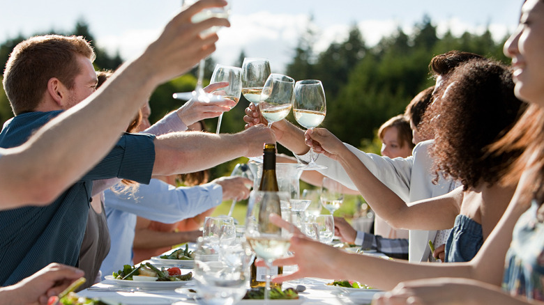
[(544, 301), (544, 223), (536, 217), (538, 208), (533, 201), (515, 224), (502, 288), (511, 295)]

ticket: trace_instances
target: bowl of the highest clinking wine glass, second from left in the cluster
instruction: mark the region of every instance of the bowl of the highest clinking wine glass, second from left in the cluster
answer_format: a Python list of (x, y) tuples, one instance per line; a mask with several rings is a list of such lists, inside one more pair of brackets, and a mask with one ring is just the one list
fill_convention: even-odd
[(270, 62), (266, 58), (243, 58), (242, 94), (246, 100), (257, 106), (262, 88), (270, 75)]

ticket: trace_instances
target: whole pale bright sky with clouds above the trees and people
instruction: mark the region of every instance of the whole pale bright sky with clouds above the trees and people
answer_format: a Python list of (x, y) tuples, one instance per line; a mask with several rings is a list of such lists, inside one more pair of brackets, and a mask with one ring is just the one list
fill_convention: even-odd
[[(232, 27), (219, 32), (213, 58), (232, 64), (241, 49), (252, 57), (268, 57), (273, 72), (282, 72), (292, 58), (297, 39), (313, 16), (319, 35), (315, 49), (346, 37), (357, 24), (368, 45), (399, 26), (407, 33), (423, 15), (438, 31), (481, 33), (489, 26), (500, 39), (513, 31), (522, 1), (512, 0), (232, 0)], [(179, 9), (181, 0), (0, 0), (0, 41), (18, 33), (29, 36), (49, 29), (73, 29), (83, 17), (96, 36), (96, 44), (123, 58), (137, 56)]]

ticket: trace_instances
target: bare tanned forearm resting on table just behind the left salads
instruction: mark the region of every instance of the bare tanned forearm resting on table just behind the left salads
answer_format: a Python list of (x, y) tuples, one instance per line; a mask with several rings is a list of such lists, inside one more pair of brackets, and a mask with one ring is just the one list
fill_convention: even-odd
[[(202, 235), (202, 233), (200, 233)], [(147, 228), (136, 230), (134, 235), (135, 249), (154, 249), (170, 247), (174, 244), (192, 242), (195, 234), (192, 231), (186, 232), (158, 232)]]

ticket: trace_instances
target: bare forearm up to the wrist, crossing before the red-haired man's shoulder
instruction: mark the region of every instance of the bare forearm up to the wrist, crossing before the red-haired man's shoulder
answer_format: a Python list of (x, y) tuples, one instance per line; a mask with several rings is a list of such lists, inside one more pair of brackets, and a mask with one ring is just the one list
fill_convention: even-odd
[[(108, 153), (155, 88), (153, 77), (142, 77), (152, 71), (140, 61), (0, 158), (1, 172), (9, 173), (0, 175), (3, 208), (54, 200)], [(83, 136), (89, 130), (92, 136)]]

